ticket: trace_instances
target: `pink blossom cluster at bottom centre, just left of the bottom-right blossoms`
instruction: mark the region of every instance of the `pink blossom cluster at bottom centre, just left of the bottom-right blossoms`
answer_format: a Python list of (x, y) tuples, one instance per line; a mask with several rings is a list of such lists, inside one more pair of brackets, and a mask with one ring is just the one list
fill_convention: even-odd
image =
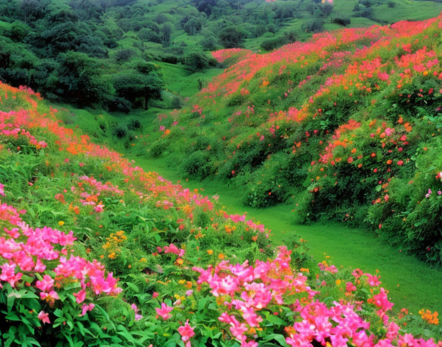
[(256, 261), (250, 266), (248, 261), (243, 264), (231, 265), (222, 261), (215, 268), (207, 270), (194, 267), (200, 273), (198, 283), (208, 283), (211, 293), (225, 299), (224, 306), (242, 318), (238, 320), (235, 314), (223, 312), (220, 321), (230, 327), (230, 333), (244, 346), (258, 346), (252, 339), (248, 340), (246, 332), (249, 328), (259, 327), (263, 318), (259, 311), (271, 303), (284, 304), (284, 297), (302, 293), (309, 299), (316, 294), (307, 284), (307, 277), (302, 273), (295, 274), (290, 267), (291, 251), (287, 247), (279, 247), (274, 260), (267, 262)]

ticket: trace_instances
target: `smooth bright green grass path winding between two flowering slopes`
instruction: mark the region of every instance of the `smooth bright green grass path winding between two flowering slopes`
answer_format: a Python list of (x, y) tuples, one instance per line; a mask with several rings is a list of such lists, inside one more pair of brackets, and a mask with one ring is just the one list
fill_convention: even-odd
[[(128, 153), (128, 157), (131, 156)], [(136, 165), (145, 171), (155, 171), (172, 182), (180, 178), (175, 169), (168, 168), (162, 160), (138, 157)], [(366, 231), (346, 228), (339, 223), (295, 225), (291, 206), (265, 209), (244, 207), (240, 202), (240, 191), (229, 189), (216, 181), (189, 179), (180, 184), (190, 189), (202, 189), (201, 193), (209, 197), (219, 195), (221, 205), (230, 213), (247, 211), (248, 217), (272, 230), (275, 243), (284, 243), (294, 234), (308, 240), (309, 252), (318, 262), (329, 255), (336, 266), (361, 268), (370, 273), (379, 270), (382, 285), (390, 291), (389, 296), (395, 303), (395, 311), (403, 307), (415, 314), (422, 308), (442, 311), (442, 271), (431, 269), (413, 256), (381, 243)]]

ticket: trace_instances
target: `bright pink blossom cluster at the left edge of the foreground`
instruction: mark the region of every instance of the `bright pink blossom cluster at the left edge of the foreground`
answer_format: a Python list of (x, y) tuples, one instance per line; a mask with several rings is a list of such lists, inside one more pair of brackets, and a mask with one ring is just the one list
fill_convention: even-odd
[[(59, 299), (56, 288), (73, 281), (81, 287), (74, 293), (78, 304), (86, 299), (87, 291), (95, 295), (121, 292), (117, 280), (111, 273), (106, 275), (104, 266), (97, 260), (90, 262), (73, 254), (68, 257), (73, 252), (70, 246), (76, 240), (72, 231), (65, 234), (47, 226), (32, 228), (23, 222), (15, 208), (7, 204), (0, 206), (0, 222), (4, 231), (4, 236), (0, 237), (0, 281), (15, 287), (24, 273), (42, 274), (34, 285), (40, 290), (40, 298), (49, 304)], [(50, 275), (52, 273), (54, 277)], [(92, 309), (93, 306), (88, 306), (83, 311)]]

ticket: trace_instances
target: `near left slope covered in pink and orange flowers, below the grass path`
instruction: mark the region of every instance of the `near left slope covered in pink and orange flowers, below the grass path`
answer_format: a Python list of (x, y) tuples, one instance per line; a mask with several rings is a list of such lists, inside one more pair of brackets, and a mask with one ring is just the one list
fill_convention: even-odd
[(0, 97), (2, 345), (438, 346), (437, 312), (393, 314), (379, 275), (274, 250), (218, 197), (65, 127), (73, 111)]

